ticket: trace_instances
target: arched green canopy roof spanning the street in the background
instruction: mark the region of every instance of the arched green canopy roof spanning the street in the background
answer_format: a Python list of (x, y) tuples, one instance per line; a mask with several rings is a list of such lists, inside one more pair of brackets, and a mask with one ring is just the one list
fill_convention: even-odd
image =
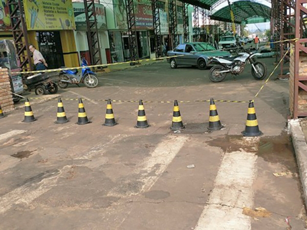
[[(270, 19), (271, 15), (270, 7), (250, 1), (234, 2), (233, 4), (231, 4), (231, 8), (234, 14), (234, 21), (235, 23), (238, 24), (241, 24), (243, 21), (246, 21), (246, 23), (248, 23), (247, 19), (252, 17), (262, 17), (265, 19)], [(231, 22), (229, 6), (223, 7), (222, 9), (213, 13), (211, 15), (211, 19)], [(249, 22), (249, 23), (255, 23), (255, 22)]]

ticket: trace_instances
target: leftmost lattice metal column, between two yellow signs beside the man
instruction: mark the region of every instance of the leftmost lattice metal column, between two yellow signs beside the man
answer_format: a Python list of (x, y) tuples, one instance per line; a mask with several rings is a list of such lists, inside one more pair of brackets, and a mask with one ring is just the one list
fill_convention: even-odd
[(32, 59), (30, 56), (27, 26), (25, 22), (25, 12), (22, 0), (9, 0), (9, 11), (11, 18), (11, 26), (17, 56), (20, 61), (21, 71), (30, 71), (32, 67)]

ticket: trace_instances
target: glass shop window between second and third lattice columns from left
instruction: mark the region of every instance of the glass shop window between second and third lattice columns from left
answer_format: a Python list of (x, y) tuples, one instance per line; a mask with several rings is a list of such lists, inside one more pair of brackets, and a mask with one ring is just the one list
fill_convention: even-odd
[(121, 33), (118, 31), (109, 31), (109, 42), (111, 50), (112, 63), (123, 62), (123, 46)]

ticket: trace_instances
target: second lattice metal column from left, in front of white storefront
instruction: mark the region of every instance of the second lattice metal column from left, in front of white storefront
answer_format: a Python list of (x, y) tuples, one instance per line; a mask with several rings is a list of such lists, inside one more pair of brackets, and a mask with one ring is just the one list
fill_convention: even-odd
[(84, 11), (87, 26), (87, 42), (89, 43), (91, 64), (102, 64), (94, 0), (84, 0)]

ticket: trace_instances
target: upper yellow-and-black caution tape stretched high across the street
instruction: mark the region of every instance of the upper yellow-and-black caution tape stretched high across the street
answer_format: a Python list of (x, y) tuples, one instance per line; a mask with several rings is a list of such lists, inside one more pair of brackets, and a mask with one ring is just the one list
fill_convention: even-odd
[[(274, 41), (272, 43), (281, 43), (281, 42), (286, 42), (286, 41), (298, 41), (299, 38), (293, 38), (293, 39), (287, 39), (287, 40), (281, 40), (281, 41)], [(227, 50), (233, 50), (235, 48), (227, 48), (227, 49), (220, 49), (220, 50), (214, 50), (214, 51), (205, 51), (206, 53), (210, 52), (216, 52), (216, 51), (227, 51)], [(202, 53), (202, 52), (197, 52), (197, 53)], [(111, 66), (111, 65), (120, 65), (120, 64), (129, 64), (129, 63), (139, 63), (139, 62), (146, 62), (146, 61), (158, 61), (158, 60), (164, 60), (164, 59), (169, 59), (173, 57), (183, 57), (183, 56), (188, 56), (188, 55), (194, 55), (193, 54), (183, 54), (183, 55), (176, 55), (176, 56), (169, 56), (169, 57), (161, 57), (161, 58), (151, 58), (151, 59), (143, 59), (143, 60), (136, 60), (136, 61), (124, 61), (124, 62), (117, 62), (117, 63), (109, 63), (109, 64), (98, 64), (98, 65), (88, 65), (88, 66), (78, 66), (78, 67), (67, 67), (67, 68), (54, 68), (52, 70), (41, 70), (41, 71), (25, 71), (25, 72), (14, 72), (14, 74), (38, 74), (38, 73), (51, 73), (51, 72), (59, 72), (59, 71), (67, 71), (67, 70), (79, 70), (82, 68), (95, 68), (95, 67), (106, 67), (106, 66)]]

